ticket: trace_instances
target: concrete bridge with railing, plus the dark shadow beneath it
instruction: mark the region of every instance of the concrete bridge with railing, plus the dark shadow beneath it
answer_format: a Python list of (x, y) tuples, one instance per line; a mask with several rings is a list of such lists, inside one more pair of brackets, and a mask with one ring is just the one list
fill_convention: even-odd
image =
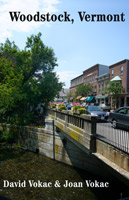
[[(54, 120), (56, 134), (62, 135), (64, 151), (71, 157), (73, 165), (101, 174), (102, 171), (109, 172), (129, 185), (128, 131), (113, 129), (108, 122), (98, 123), (96, 117), (85, 114), (74, 115), (70, 111), (49, 110), (49, 117)], [(79, 164), (72, 159), (72, 153), (70, 154), (72, 147), (68, 146), (68, 141), (82, 152), (75, 153), (76, 159), (80, 159)], [(59, 153), (57, 143), (55, 151), (56, 154)]]

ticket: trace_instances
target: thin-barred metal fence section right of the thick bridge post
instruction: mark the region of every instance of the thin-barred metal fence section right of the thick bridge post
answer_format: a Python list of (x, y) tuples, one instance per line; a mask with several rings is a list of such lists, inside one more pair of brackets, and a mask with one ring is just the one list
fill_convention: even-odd
[(129, 127), (117, 125), (118, 128), (114, 129), (110, 121), (97, 123), (96, 137), (129, 153)]

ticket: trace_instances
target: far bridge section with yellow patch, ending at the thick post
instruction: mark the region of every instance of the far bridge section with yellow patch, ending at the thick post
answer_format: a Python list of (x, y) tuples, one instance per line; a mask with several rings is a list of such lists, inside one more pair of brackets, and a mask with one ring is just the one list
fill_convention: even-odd
[(96, 117), (51, 109), (48, 110), (48, 114), (53, 116), (58, 131), (63, 131), (66, 137), (77, 142), (77, 145), (82, 145), (89, 151), (95, 152)]

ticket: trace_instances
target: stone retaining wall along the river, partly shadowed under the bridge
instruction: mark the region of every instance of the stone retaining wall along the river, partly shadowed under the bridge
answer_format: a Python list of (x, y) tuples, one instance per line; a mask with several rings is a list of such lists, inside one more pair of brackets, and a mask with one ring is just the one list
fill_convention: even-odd
[(99, 171), (99, 162), (96, 163), (91, 152), (86, 150), (85, 147), (83, 149), (82, 146), (79, 146), (75, 137), (56, 129), (55, 126), (53, 129), (53, 125), (53, 120), (47, 118), (45, 128), (1, 125), (0, 129), (13, 129), (16, 133), (17, 143), (25, 150), (38, 152), (51, 159), (80, 169), (91, 172)]

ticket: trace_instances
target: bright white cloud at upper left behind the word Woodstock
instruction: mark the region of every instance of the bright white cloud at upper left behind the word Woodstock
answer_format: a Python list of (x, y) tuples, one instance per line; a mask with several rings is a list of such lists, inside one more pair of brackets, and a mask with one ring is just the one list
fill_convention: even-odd
[[(9, 12), (20, 11), (22, 14), (41, 14), (57, 12), (60, 0), (0, 0), (0, 42), (10, 38), (13, 31), (30, 32), (39, 28), (43, 22), (12, 22)], [(45, 24), (45, 23), (44, 23)]]

